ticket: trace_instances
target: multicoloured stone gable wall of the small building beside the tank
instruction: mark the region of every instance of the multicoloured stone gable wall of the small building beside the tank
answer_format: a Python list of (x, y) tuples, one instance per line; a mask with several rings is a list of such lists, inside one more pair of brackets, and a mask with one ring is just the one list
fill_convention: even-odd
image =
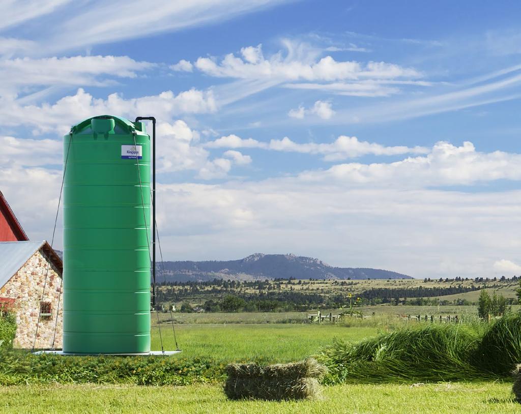
[(35, 348), (49, 348), (53, 343), (54, 325), (56, 323), (56, 310), (58, 309), (58, 297), (60, 297), (58, 323), (56, 324), (55, 348), (61, 348), (63, 333), (62, 303), (63, 295), (60, 295), (61, 278), (54, 265), (48, 261), (43, 249), (40, 249), (26, 262), (15, 275), (0, 288), (0, 296), (10, 297), (15, 300), (16, 309), (16, 348), (32, 348), (36, 323), (40, 313), (40, 298), (42, 297), (45, 283), (47, 264), (49, 272), (43, 302), (51, 302), (51, 317), (41, 317), (36, 337)]

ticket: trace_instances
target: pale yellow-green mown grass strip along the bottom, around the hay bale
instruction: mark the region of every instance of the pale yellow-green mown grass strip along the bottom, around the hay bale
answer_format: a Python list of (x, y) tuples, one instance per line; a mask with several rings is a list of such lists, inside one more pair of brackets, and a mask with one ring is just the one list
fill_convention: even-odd
[(338, 385), (302, 402), (228, 401), (219, 386), (139, 387), (98, 385), (0, 388), (3, 413), (371, 413), (456, 414), (521, 412), (510, 384)]

